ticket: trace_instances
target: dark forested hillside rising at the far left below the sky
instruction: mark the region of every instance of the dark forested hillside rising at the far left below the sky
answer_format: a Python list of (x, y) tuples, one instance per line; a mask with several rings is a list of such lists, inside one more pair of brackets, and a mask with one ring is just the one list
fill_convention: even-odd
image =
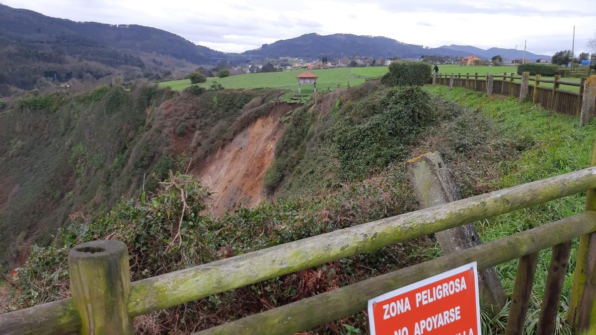
[(152, 27), (75, 22), (2, 4), (0, 17), (0, 97), (73, 80), (156, 79), (224, 55)]

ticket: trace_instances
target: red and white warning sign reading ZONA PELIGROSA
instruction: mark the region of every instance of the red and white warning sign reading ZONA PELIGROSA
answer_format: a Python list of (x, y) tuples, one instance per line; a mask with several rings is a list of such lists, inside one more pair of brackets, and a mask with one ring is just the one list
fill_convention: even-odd
[(476, 262), (368, 300), (371, 335), (482, 335)]

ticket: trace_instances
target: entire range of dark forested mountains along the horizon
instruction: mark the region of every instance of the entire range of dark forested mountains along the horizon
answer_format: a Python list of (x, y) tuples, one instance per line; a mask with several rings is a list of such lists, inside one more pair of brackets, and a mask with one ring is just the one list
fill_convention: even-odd
[[(313, 60), (354, 55), (374, 58), (477, 55), (490, 59), (497, 54), (513, 58), (514, 52), (465, 45), (423, 48), (382, 36), (316, 33), (232, 54), (195, 45), (181, 36), (152, 27), (76, 22), (0, 4), (0, 97), (35, 88), (51, 89), (67, 81), (69, 85), (92, 86), (109, 82), (116, 76), (125, 81), (179, 77), (198, 66), (215, 65), (222, 58), (245, 63), (249, 58)], [(522, 57), (522, 51), (517, 52), (517, 57)], [(550, 56), (526, 52), (526, 58), (536, 60)]]

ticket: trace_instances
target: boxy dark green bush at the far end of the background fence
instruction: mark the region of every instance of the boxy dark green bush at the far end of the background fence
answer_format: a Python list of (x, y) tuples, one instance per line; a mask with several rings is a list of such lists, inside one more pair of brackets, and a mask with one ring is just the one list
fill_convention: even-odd
[(389, 72), (381, 77), (381, 83), (389, 86), (424, 85), (430, 82), (431, 67), (421, 61), (392, 63)]

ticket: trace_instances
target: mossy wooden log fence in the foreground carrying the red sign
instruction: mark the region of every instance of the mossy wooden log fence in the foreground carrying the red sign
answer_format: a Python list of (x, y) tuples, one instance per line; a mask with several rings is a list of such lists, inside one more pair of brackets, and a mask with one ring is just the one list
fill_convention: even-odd
[[(483, 85), (480, 80), (473, 83), (477, 87)], [(513, 91), (513, 86), (510, 87)], [(596, 165), (596, 160), (593, 159), (592, 165)], [(576, 334), (595, 334), (596, 166), (134, 283), (130, 282), (125, 244), (107, 240), (83, 243), (69, 253), (72, 297), (1, 314), (0, 332), (131, 334), (132, 318), (138, 315), (584, 191), (588, 191), (586, 211), (578, 215), (229, 322), (201, 334), (292, 334), (362, 311), (368, 299), (446, 269), (476, 261), (482, 270), (513, 259), (520, 261), (506, 334), (522, 334), (538, 253), (553, 247), (538, 324), (538, 334), (551, 334), (571, 240), (577, 237), (580, 242), (572, 262), (575, 274), (569, 322)]]

